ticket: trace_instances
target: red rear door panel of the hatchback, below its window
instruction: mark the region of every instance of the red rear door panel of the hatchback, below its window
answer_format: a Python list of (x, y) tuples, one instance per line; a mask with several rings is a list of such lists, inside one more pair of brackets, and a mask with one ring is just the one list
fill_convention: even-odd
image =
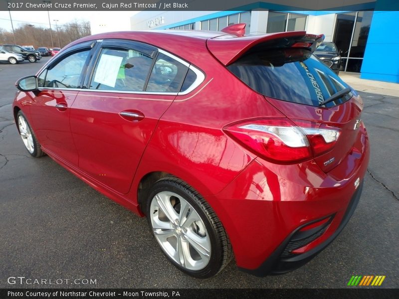
[[(126, 194), (161, 115), (175, 96), (81, 91), (71, 107), (70, 127), (79, 168)], [(140, 121), (120, 112), (140, 112)], [(105, 154), (104, 154), (105, 153)]]

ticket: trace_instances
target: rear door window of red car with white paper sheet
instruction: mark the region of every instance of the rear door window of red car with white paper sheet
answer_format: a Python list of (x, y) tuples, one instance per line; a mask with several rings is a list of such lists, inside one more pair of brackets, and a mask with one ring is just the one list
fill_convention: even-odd
[(143, 91), (153, 59), (142, 52), (124, 48), (103, 48), (90, 89)]

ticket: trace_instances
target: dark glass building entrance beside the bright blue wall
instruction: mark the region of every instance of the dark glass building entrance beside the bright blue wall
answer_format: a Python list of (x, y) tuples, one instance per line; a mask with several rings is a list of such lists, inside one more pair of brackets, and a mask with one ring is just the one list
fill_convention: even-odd
[(340, 70), (360, 72), (372, 17), (371, 10), (337, 14), (333, 41), (342, 56)]

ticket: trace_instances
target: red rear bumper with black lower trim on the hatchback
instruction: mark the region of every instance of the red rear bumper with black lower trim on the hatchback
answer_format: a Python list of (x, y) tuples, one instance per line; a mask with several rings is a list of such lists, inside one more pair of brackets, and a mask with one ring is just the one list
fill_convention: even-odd
[[(362, 154), (348, 154), (327, 173), (314, 161), (277, 165), (256, 158), (221, 192), (205, 197), (239, 269), (257, 276), (285, 273), (337, 237), (357, 206), (367, 171), (370, 147), (366, 132), (361, 135)], [(328, 221), (308, 229), (322, 219)]]

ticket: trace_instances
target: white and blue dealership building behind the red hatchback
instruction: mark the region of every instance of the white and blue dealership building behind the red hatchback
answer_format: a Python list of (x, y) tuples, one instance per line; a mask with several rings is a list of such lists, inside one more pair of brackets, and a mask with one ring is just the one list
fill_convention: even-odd
[[(324, 34), (325, 41), (335, 42), (342, 50), (342, 71), (360, 73), (363, 79), (399, 83), (399, 3), (353, 2), (357, 3), (341, 5), (340, 10), (334, 11), (326, 7), (289, 10), (288, 6), (266, 2), (240, 6), (239, 10), (141, 11), (131, 17), (130, 29), (217, 31), (227, 25), (246, 23), (248, 34), (306, 30)], [(387, 11), (392, 5), (397, 5), (397, 10)]]

